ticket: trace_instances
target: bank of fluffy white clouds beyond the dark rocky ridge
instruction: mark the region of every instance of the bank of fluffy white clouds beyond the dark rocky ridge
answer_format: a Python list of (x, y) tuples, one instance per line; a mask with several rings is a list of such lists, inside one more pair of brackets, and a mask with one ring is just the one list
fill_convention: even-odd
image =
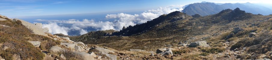
[[(36, 21), (47, 22), (43, 24), (44, 27), (49, 28), (49, 33), (58, 34), (62, 33), (64, 35), (68, 35), (68, 32), (71, 30), (80, 31), (80, 34), (88, 33), (84, 28), (92, 27), (96, 30), (121, 30), (123, 26), (134, 26), (136, 24), (142, 24), (152, 19), (155, 19), (163, 14), (168, 14), (174, 11), (182, 11), (183, 5), (170, 5), (166, 7), (159, 7), (156, 10), (146, 10), (141, 14), (126, 14), (126, 13), (118, 13), (118, 14), (107, 14), (105, 19), (114, 19), (114, 21), (94, 21), (93, 19), (69, 19), (69, 20), (43, 20), (36, 19)], [(71, 26), (63, 27), (58, 24), (71, 24)]]

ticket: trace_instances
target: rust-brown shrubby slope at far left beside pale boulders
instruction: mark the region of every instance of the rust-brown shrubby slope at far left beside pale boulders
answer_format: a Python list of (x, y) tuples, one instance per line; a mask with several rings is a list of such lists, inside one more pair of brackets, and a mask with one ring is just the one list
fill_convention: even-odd
[[(40, 49), (47, 51), (51, 46), (60, 44), (51, 38), (32, 34), (32, 30), (27, 29), (20, 21), (5, 20), (0, 21), (0, 24), (11, 26), (10, 28), (0, 26), (0, 46), (9, 47), (7, 50), (0, 50), (0, 56), (6, 60), (11, 60), (14, 54), (19, 55), (22, 60), (27, 60), (26, 58), (42, 60), (44, 54)], [(27, 41), (41, 41), (41, 46), (35, 48)]]

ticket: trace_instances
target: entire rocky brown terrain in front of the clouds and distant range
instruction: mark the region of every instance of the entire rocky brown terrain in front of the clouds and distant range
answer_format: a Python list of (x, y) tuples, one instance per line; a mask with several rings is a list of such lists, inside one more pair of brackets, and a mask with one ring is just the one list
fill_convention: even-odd
[(175, 11), (121, 31), (48, 34), (1, 16), (1, 60), (270, 60), (272, 15), (239, 8), (194, 17)]

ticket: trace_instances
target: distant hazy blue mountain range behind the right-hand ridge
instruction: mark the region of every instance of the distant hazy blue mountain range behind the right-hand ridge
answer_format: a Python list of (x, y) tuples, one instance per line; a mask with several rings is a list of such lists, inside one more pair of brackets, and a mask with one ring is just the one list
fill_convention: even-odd
[(188, 15), (200, 14), (201, 16), (207, 16), (211, 14), (219, 13), (225, 9), (235, 9), (240, 8), (241, 10), (245, 10), (248, 13), (253, 14), (262, 14), (269, 15), (272, 14), (271, 9), (259, 5), (255, 5), (252, 3), (213, 3), (213, 2), (201, 2), (188, 4), (184, 6), (182, 12)]

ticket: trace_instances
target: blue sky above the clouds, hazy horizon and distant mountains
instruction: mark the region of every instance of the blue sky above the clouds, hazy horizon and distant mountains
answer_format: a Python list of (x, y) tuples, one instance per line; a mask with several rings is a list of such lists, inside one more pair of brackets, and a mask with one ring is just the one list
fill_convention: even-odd
[(201, 1), (216, 3), (261, 3), (272, 0), (0, 0), (0, 14), (9, 17), (60, 14), (139, 11), (169, 5), (186, 5)]

